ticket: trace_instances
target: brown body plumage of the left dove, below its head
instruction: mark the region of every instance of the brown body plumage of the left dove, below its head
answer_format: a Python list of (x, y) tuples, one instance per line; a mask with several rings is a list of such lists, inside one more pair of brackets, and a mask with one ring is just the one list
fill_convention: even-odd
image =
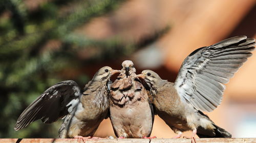
[(59, 138), (93, 136), (102, 120), (108, 117), (109, 91), (106, 82), (90, 81), (79, 100), (77, 107), (61, 125)]

